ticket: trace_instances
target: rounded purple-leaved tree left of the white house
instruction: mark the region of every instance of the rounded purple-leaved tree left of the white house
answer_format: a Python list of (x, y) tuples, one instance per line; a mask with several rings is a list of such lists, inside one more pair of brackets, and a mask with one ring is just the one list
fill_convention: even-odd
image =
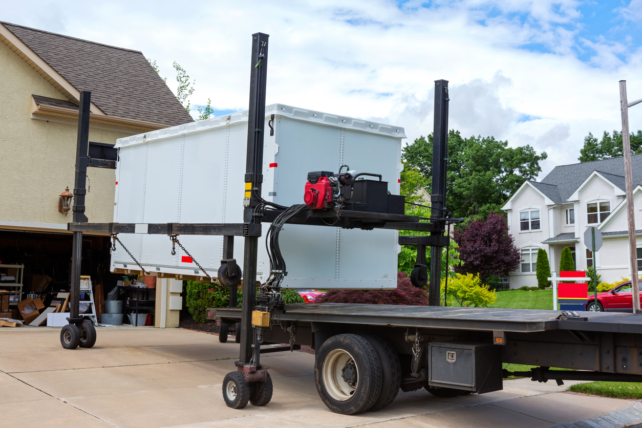
[(455, 270), (478, 273), (483, 284), (490, 277), (505, 277), (519, 267), (521, 254), (501, 214), (473, 221), (463, 230), (455, 230), (453, 237), (459, 245), (459, 259), (464, 262)]

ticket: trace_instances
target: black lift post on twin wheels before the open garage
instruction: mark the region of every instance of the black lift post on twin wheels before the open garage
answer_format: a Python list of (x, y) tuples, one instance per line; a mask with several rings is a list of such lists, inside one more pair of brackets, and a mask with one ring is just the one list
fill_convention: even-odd
[[(76, 172), (74, 180), (73, 222), (87, 223), (85, 216), (85, 194), (87, 189), (87, 166), (89, 158), (89, 108), (91, 107), (91, 92), (80, 92), (78, 106), (78, 139), (76, 142)], [(60, 331), (60, 343), (67, 349), (75, 349), (80, 345), (91, 348), (96, 343), (96, 329), (89, 320), (80, 316), (80, 263), (82, 261), (82, 232), (73, 232), (73, 248), (71, 250), (71, 289), (69, 292), (69, 324)]]

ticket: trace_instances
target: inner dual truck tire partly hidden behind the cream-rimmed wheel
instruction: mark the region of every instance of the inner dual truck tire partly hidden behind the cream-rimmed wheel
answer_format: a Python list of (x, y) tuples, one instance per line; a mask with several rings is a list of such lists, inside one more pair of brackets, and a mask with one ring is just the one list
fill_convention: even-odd
[(393, 402), (401, 387), (401, 362), (390, 342), (376, 334), (361, 334), (377, 352), (381, 363), (381, 392), (368, 411), (383, 409)]

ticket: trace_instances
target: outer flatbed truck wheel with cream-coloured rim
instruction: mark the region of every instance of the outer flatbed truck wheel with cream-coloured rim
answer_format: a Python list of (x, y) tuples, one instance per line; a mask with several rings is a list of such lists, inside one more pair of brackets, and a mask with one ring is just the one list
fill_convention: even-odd
[(379, 398), (381, 364), (374, 347), (357, 334), (337, 334), (319, 348), (315, 359), (319, 397), (334, 413), (356, 415)]

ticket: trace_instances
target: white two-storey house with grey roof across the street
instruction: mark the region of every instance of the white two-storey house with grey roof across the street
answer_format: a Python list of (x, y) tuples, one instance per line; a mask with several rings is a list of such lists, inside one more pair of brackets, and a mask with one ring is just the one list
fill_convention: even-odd
[[(636, 225), (642, 225), (642, 155), (631, 157)], [(575, 268), (593, 265), (584, 243), (588, 227), (598, 227), (603, 246), (595, 255), (604, 282), (630, 278), (629, 233), (622, 157), (557, 166), (541, 182), (526, 181), (502, 207), (522, 261), (510, 273), (510, 287), (537, 286), (537, 250), (548, 253), (551, 271), (559, 270), (563, 248), (571, 248)], [(642, 267), (642, 230), (636, 230)], [(590, 245), (590, 243), (589, 243)]]

